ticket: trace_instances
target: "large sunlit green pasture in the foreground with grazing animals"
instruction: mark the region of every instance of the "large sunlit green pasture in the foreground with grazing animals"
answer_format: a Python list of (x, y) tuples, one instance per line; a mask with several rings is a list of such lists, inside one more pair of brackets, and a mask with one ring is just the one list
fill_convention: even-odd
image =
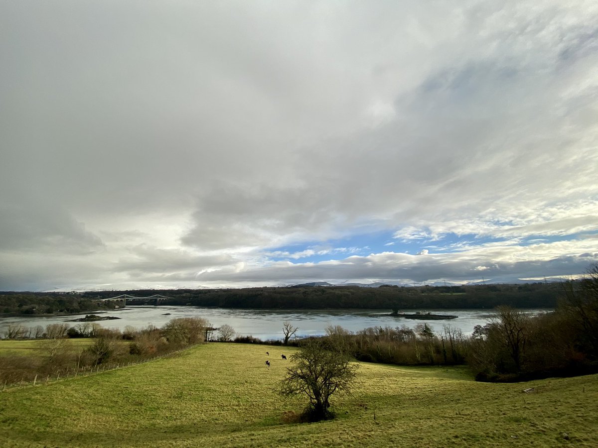
[(337, 419), (289, 424), (304, 403), (273, 389), (293, 350), (212, 343), (0, 392), (0, 446), (597, 446), (596, 375), (490, 384), (460, 367), (362, 363), (354, 394), (332, 400)]

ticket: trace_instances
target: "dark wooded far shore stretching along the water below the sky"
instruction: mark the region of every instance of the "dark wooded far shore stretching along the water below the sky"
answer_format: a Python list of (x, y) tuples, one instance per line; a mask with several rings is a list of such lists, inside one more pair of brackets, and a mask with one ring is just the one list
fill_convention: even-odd
[(280, 309), (467, 309), (554, 308), (563, 294), (561, 283), (488, 284), (475, 286), (298, 286), (247, 289), (178, 289), (87, 291), (83, 293), (0, 293), (0, 315), (72, 314), (112, 309), (120, 294), (170, 297), (163, 305), (218, 306), (221, 308)]

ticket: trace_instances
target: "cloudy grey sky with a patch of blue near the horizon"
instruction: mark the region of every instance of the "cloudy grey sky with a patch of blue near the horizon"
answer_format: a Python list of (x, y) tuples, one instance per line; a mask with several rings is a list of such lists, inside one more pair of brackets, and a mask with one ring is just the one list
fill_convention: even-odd
[(598, 2), (0, 1), (0, 290), (598, 261)]

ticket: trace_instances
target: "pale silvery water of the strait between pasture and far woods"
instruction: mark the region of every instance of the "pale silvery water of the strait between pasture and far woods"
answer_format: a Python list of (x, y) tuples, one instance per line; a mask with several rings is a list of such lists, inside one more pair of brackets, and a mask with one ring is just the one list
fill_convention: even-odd
[[(389, 315), (390, 310), (380, 309), (327, 309), (327, 310), (298, 310), (298, 309), (226, 309), (202, 308), (197, 306), (127, 306), (124, 309), (95, 312), (119, 317), (120, 320), (98, 321), (107, 328), (123, 330), (126, 326), (137, 328), (153, 325), (161, 327), (170, 319), (177, 317), (204, 317), (214, 327), (228, 324), (240, 336), (252, 335), (260, 339), (281, 339), (282, 323), (291, 321), (299, 327), (297, 336), (323, 335), (328, 326), (340, 325), (351, 332), (358, 332), (367, 327), (415, 327), (418, 323), (427, 323), (435, 332), (441, 332), (443, 326), (451, 325), (460, 328), (465, 335), (470, 335), (476, 325), (484, 325), (495, 313), (489, 309), (441, 309), (428, 311), (436, 314), (453, 314), (459, 318), (451, 320), (411, 320)], [(549, 312), (548, 309), (521, 310), (528, 314)], [(88, 312), (89, 314), (89, 312)], [(84, 315), (84, 314), (82, 314)], [(53, 323), (77, 324), (72, 320), (81, 315), (61, 317), (0, 317), (0, 334), (11, 323), (21, 323), (27, 327), (37, 325), (46, 326)]]

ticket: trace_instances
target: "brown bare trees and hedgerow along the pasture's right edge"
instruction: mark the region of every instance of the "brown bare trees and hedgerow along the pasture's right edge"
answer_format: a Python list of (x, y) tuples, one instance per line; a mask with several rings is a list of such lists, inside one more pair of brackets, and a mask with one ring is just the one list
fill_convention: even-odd
[(428, 324), (413, 329), (371, 327), (349, 332), (330, 326), (322, 340), (329, 350), (359, 361), (398, 365), (467, 364), (478, 381), (526, 381), (598, 373), (598, 265), (579, 281), (562, 286), (553, 312), (537, 316), (501, 305), (471, 335)]

